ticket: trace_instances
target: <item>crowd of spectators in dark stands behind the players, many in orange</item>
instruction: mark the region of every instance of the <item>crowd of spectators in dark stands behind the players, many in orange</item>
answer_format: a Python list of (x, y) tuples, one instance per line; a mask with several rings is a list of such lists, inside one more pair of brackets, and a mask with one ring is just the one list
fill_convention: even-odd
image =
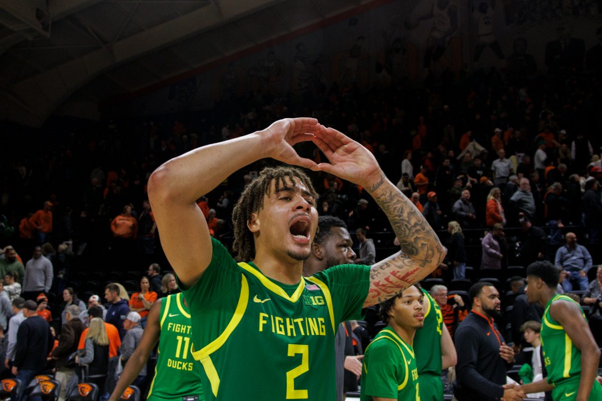
[[(101, 377), (115, 369), (110, 358), (120, 355), (125, 363), (151, 305), (178, 292), (173, 274), (162, 276), (159, 267), (167, 261), (146, 199), (149, 175), (174, 156), (290, 115), (311, 115), (361, 142), (441, 236), (447, 259), (427, 289), (452, 337), (470, 308), (471, 284), (495, 279), (506, 342), (516, 351), (536, 349), (538, 327), (527, 323), (540, 321), (542, 311), (526, 302), (524, 282), (515, 276), (524, 278), (526, 266), (548, 260), (562, 267), (559, 290), (579, 298), (602, 346), (602, 269), (595, 268), (602, 256), (595, 249), (602, 240), (600, 82), (580, 69), (529, 79), (495, 68), (465, 69), (453, 84), (429, 79), (419, 88), (360, 93), (355, 85), (333, 83), (296, 94), (249, 93), (223, 99), (211, 112), (177, 117), (102, 124), (57, 119), (43, 132), (10, 126), (16, 135), (3, 152), (11, 154), (0, 158), (4, 374), (48, 366), (57, 377), (63, 372), (66, 384), (75, 364), (94, 366), (88, 375)], [(306, 144), (299, 153), (324, 161)], [(249, 165), (198, 200), (211, 234), (226, 246), (235, 201), (272, 163)], [(309, 174), (320, 193), (320, 215), (344, 219), (355, 233), (357, 262), (388, 256), (394, 236), (365, 189)], [(125, 280), (124, 272), (132, 271)], [(368, 311), (359, 327), (374, 335), (375, 316)], [(17, 335), (30, 318), (32, 331), (52, 327), (60, 339)], [(22, 338), (36, 346), (23, 348)], [(85, 356), (66, 360), (78, 349)], [(49, 356), (38, 361), (40, 355)]]

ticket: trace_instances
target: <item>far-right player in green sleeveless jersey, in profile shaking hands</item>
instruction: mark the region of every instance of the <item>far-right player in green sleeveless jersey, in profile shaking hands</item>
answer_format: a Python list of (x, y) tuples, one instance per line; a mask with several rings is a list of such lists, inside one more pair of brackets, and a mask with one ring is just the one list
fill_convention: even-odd
[(550, 262), (527, 268), (527, 299), (545, 308), (540, 338), (548, 377), (521, 390), (526, 394), (551, 390), (554, 401), (602, 400), (602, 386), (595, 381), (600, 349), (581, 306), (556, 293), (559, 278), (559, 269)]

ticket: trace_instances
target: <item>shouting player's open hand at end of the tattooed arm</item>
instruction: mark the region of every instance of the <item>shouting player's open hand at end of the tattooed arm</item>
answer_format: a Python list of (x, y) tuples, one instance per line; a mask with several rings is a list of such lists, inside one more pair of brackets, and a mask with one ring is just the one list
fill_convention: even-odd
[(383, 173), (370, 151), (334, 128), (320, 126), (312, 139), (330, 163), (320, 163), (318, 170), (361, 185), (370, 186), (382, 180)]

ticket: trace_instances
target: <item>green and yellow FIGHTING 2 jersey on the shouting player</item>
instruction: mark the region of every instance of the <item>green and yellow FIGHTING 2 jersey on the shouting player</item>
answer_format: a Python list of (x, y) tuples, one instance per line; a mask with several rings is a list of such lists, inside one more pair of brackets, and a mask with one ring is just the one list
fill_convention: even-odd
[(205, 398), (334, 400), (335, 332), (361, 318), (369, 283), (370, 266), (358, 265), (278, 283), (213, 240), (211, 263), (184, 294)]

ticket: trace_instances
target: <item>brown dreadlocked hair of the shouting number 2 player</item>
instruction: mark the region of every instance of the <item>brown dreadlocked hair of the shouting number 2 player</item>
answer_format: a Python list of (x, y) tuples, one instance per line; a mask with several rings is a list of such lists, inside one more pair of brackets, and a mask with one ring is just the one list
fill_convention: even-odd
[(248, 261), (255, 258), (255, 239), (247, 227), (251, 214), (259, 212), (263, 208), (264, 196), (269, 194), (270, 188), (276, 190), (281, 186), (295, 186), (295, 178), (299, 179), (317, 198), (314, 186), (307, 174), (299, 168), (288, 166), (264, 168), (259, 176), (244, 188), (232, 210), (232, 225), (234, 225), (232, 248), (237, 252), (238, 260)]

